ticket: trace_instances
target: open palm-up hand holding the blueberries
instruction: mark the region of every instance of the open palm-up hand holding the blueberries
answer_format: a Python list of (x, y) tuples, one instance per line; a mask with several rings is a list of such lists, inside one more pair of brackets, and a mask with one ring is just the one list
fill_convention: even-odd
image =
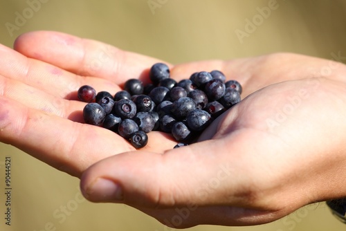
[[(0, 140), (81, 177), (90, 201), (126, 203), (186, 228), (266, 223), (346, 196), (343, 64), (273, 54), (171, 65), (176, 80), (223, 71), (242, 84), (244, 100), (201, 142), (172, 149), (170, 136), (152, 132), (136, 151), (106, 129), (80, 123), (84, 103), (75, 91), (89, 84), (115, 93), (129, 78), (145, 82), (157, 59), (51, 32), (23, 35), (15, 49), (23, 55), (0, 47)], [(322, 77), (326, 67), (331, 73)]]

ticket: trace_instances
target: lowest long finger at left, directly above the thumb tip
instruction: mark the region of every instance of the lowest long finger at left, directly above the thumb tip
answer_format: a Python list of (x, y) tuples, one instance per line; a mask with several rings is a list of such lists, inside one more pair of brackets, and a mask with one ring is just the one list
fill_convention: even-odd
[[(135, 150), (112, 131), (30, 109), (3, 97), (0, 97), (0, 141), (73, 176), (80, 176), (102, 158)], [(152, 132), (147, 149), (164, 151), (173, 144), (162, 133)]]

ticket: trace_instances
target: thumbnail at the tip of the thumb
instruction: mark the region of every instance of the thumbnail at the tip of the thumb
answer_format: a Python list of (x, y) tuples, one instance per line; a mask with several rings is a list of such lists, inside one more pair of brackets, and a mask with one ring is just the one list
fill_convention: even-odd
[(86, 198), (91, 201), (122, 201), (122, 189), (120, 185), (105, 178), (97, 178), (90, 187), (87, 187)]

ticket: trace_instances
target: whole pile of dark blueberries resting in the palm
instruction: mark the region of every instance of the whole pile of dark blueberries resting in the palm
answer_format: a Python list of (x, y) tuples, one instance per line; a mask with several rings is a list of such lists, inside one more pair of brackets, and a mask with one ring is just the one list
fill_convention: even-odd
[(157, 63), (149, 77), (152, 83), (146, 86), (137, 79), (127, 80), (124, 90), (115, 95), (81, 86), (78, 98), (88, 102), (84, 122), (114, 131), (136, 148), (147, 145), (150, 131), (172, 133), (179, 142), (175, 147), (180, 147), (237, 104), (242, 93), (239, 82), (226, 82), (221, 71), (201, 71), (176, 82), (168, 66)]

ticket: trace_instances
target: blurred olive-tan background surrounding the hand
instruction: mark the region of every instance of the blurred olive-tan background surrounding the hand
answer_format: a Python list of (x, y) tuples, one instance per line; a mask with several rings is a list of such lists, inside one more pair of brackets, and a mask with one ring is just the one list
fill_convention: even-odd
[[(345, 13), (343, 0), (1, 0), (0, 42), (12, 47), (22, 33), (58, 30), (173, 64), (282, 51), (331, 59), (331, 53), (346, 56)], [(1, 193), (0, 230), (172, 230), (131, 207), (85, 201), (78, 179), (10, 145), (0, 144), (0, 188), (6, 156), (12, 158), (12, 223), (5, 225)], [(319, 203), (266, 225), (188, 230), (342, 229)]]

